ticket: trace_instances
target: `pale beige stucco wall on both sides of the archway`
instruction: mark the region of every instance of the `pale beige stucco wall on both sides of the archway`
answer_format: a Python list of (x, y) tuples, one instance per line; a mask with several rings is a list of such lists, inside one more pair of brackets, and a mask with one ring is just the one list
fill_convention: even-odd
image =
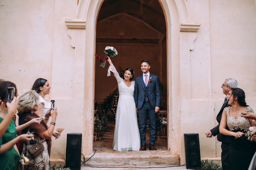
[[(180, 143), (177, 142), (179, 146), (172, 146), (174, 150), (177, 148), (176, 153), (180, 151), (181, 162), (184, 162), (183, 133), (199, 133), (202, 158), (220, 157), (220, 142), (216, 138), (206, 138), (205, 133), (217, 124), (215, 118), (224, 98), (220, 86), (225, 78), (238, 80), (240, 88), (245, 90), (248, 104), (256, 110), (255, 1), (187, 2), (191, 22), (201, 23), (194, 49), (189, 52), (188, 61), (180, 61), (179, 56), (169, 60), (169, 70), (179, 69), (179, 63), (183, 62), (189, 62), (190, 65), (186, 72), (181, 69), (180, 73), (172, 73), (172, 80), (179, 80), (179, 74), (185, 75), (180, 78), (180, 89), (175, 86), (171, 97), (173, 103), (181, 98), (180, 119), (178, 115), (174, 115), (175, 122), (180, 121), (180, 127), (173, 127), (174, 133), (179, 133)], [(166, 4), (174, 3), (169, 0)], [(65, 159), (67, 133), (82, 133), (84, 128), (91, 126), (85, 123), (90, 122), (90, 118), (86, 117), (84, 120), (83, 113), (84, 103), (88, 103), (84, 101), (84, 87), (90, 86), (84, 86), (84, 83), (93, 81), (84, 80), (84, 75), (92, 70), (86, 70), (84, 65), (94, 63), (86, 63), (87, 58), (77, 55), (75, 48), (71, 47), (68, 28), (64, 22), (65, 19), (75, 18), (76, 8), (77, 0), (0, 0), (0, 78), (15, 82), (19, 93), (30, 89), (38, 77), (46, 78), (51, 83), (52, 91), (47, 97), (57, 102), (59, 114), (56, 128), (65, 128), (62, 136), (53, 140), (51, 159)], [(77, 32), (79, 35), (82, 30)], [(174, 45), (186, 45), (187, 34), (174, 35), (175, 38), (185, 40)], [(79, 38), (82, 43), (85, 41), (85, 34), (81, 34)], [(87, 54), (83, 48), (76, 50)], [(187, 53), (181, 51), (181, 59)], [(169, 90), (172, 88), (170, 84), (169, 81)], [(89, 92), (85, 89), (85, 93)], [(91, 107), (88, 105), (85, 107)], [(170, 124), (169, 128), (172, 128)], [(169, 142), (175, 140), (175, 137), (168, 139)]]

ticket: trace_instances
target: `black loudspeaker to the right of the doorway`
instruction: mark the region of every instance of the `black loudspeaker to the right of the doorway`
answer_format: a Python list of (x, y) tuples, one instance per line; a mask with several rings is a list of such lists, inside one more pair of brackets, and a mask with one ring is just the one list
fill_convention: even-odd
[(186, 168), (201, 168), (201, 156), (198, 133), (184, 133)]

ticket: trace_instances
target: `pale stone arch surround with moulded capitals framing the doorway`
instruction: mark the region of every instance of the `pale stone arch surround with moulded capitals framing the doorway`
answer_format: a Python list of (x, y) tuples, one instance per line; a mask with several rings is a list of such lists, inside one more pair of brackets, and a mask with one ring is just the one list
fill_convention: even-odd
[[(93, 150), (94, 114), (94, 62), (96, 19), (103, 0), (80, 0), (76, 18), (65, 20), (69, 28), (71, 46), (75, 48), (75, 58), (85, 58), (84, 68), (84, 124), (82, 153)], [(167, 89), (168, 89), (168, 150), (184, 157), (183, 135), (180, 127), (181, 99), (190, 98), (190, 50), (197, 37), (198, 23), (190, 23), (186, 0), (159, 0), (166, 18), (167, 27)], [(82, 67), (82, 65), (80, 66)], [(183, 91), (180, 91), (182, 86)], [(184, 159), (181, 159), (181, 163)]]

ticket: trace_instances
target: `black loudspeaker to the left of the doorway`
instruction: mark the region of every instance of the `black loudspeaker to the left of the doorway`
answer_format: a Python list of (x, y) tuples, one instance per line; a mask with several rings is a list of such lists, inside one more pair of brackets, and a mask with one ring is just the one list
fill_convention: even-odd
[(66, 147), (66, 167), (81, 169), (82, 133), (68, 133)]

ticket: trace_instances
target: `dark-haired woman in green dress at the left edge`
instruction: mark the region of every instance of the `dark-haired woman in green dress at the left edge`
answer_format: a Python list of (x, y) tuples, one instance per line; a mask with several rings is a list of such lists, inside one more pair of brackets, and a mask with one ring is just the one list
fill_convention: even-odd
[[(13, 101), (11, 103), (7, 103), (7, 88), (13, 87), (15, 88)], [(16, 85), (9, 81), (0, 81), (0, 97), (2, 99), (0, 106), (0, 122), (1, 126), (5, 125), (5, 129), (0, 129), (1, 133), (4, 133), (0, 137), (0, 169), (1, 170), (9, 170), (9, 169), (18, 169), (18, 160), (22, 159), (20, 154), (18, 153), (17, 146), (15, 145), (18, 141), (30, 141), (31, 137), (34, 135), (23, 134), (17, 137), (17, 131), (21, 131), (22, 129), (28, 127), (34, 122), (39, 122), (38, 120), (42, 120), (42, 118), (38, 118), (35, 120), (31, 120), (22, 126), (15, 127), (13, 122), (13, 115), (16, 112), (17, 104), (16, 104), (16, 96), (17, 90)], [(7, 105), (7, 107), (6, 107)], [(7, 113), (8, 111), (8, 113)], [(7, 120), (7, 122), (5, 122)]]

